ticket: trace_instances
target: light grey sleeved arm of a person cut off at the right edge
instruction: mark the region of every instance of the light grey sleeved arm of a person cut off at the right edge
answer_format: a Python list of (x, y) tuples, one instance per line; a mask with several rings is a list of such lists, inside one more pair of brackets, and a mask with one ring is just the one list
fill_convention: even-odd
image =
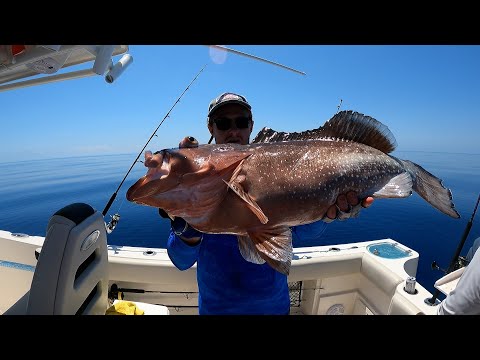
[(480, 251), (475, 251), (457, 286), (438, 305), (438, 315), (480, 315)]

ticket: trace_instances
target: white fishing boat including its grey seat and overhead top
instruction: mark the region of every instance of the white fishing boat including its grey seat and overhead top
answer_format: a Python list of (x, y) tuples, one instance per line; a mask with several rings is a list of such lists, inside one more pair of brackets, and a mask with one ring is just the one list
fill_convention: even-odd
[[(128, 45), (3, 45), (0, 91), (94, 75), (112, 83), (132, 61)], [(164, 248), (109, 245), (115, 223), (89, 204), (45, 222), (45, 236), (0, 230), (0, 314), (105, 314), (126, 303), (145, 314), (198, 314), (196, 265), (180, 271)], [(419, 256), (391, 238), (294, 248), (290, 314), (435, 315), (439, 300), (416, 281)], [(457, 280), (442, 281), (442, 291)]]

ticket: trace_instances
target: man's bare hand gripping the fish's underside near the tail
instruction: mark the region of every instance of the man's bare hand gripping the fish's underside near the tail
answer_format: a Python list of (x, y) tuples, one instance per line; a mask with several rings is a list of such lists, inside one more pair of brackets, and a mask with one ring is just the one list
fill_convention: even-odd
[(330, 223), (333, 220), (345, 220), (357, 217), (362, 207), (368, 208), (372, 203), (373, 197), (368, 196), (360, 201), (355, 191), (340, 194), (337, 197), (337, 202), (328, 208), (322, 220)]

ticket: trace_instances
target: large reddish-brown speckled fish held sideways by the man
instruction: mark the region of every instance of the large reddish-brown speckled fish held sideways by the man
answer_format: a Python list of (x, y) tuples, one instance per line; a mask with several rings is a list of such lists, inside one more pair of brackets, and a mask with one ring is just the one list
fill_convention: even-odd
[(164, 209), (205, 233), (238, 236), (242, 256), (288, 274), (290, 226), (324, 217), (339, 194), (404, 198), (416, 191), (459, 218), (451, 191), (421, 166), (388, 155), (396, 142), (370, 116), (342, 111), (318, 129), (264, 128), (249, 145), (165, 149), (146, 155), (148, 171), (127, 199)]

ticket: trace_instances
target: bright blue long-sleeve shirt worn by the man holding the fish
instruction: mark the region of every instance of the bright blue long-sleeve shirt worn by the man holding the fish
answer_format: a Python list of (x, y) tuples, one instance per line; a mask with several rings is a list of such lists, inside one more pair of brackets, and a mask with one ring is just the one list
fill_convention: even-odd
[[(308, 240), (320, 236), (326, 223), (292, 228), (292, 237)], [(317, 242), (318, 242), (318, 238)], [(173, 231), (167, 241), (173, 264), (186, 270), (197, 263), (198, 311), (207, 314), (288, 314), (290, 294), (287, 276), (267, 263), (246, 261), (235, 235), (203, 234), (195, 246), (188, 245)]]

